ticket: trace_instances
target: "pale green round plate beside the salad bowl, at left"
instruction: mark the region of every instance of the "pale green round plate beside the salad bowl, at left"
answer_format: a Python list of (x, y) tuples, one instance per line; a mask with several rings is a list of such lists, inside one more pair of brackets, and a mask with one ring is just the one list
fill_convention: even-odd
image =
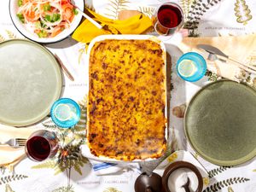
[(0, 44), (0, 122), (32, 125), (61, 95), (61, 70), (43, 46), (28, 40)]

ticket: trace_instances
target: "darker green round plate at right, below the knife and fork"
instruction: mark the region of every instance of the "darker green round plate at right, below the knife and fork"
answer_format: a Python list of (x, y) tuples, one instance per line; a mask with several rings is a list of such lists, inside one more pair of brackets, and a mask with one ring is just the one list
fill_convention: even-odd
[(192, 148), (220, 166), (256, 155), (256, 91), (229, 80), (202, 88), (190, 101), (184, 129)]

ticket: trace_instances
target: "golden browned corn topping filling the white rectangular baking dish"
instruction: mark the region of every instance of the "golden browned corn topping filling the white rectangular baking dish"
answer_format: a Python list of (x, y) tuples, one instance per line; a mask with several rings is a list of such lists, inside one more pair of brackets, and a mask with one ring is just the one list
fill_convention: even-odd
[(151, 40), (108, 39), (90, 52), (90, 152), (117, 160), (166, 150), (165, 62)]

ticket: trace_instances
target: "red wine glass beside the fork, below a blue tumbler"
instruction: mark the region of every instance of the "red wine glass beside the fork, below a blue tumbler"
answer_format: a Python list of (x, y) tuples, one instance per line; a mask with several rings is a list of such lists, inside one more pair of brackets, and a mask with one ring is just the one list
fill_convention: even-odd
[(58, 139), (54, 132), (38, 130), (27, 139), (25, 150), (27, 157), (31, 160), (46, 160), (57, 153)]

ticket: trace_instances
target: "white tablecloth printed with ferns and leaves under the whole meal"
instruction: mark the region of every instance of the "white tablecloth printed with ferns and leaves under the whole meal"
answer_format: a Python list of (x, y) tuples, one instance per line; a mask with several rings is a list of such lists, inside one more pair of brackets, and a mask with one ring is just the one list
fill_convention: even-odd
[[(145, 15), (151, 16), (155, 9), (164, 3), (163, 0), (102, 0), (86, 1), (86, 6), (97, 13), (116, 19), (119, 10), (137, 9)], [(235, 36), (256, 32), (256, 2), (253, 0), (179, 0), (185, 14), (184, 27), (189, 29), (189, 36)], [(23, 38), (15, 30), (9, 18), (9, 1), (3, 0), (0, 8), (0, 42), (11, 38)], [(15, 172), (1, 168), (0, 190), (5, 192), (73, 192), (73, 191), (102, 191), (125, 192), (133, 191), (133, 183), (138, 176), (137, 172), (127, 170), (117, 175), (96, 177), (91, 171), (86, 158), (79, 153), (79, 146), (84, 143), (84, 125), (86, 124), (86, 99), (84, 97), (87, 86), (84, 78), (84, 63), (86, 51), (84, 44), (75, 44), (71, 38), (55, 45), (46, 45), (55, 53), (61, 55), (68, 68), (76, 75), (74, 82), (66, 79), (64, 96), (79, 101), (82, 108), (82, 117), (79, 124), (70, 130), (57, 128), (51, 120), (46, 118), (39, 125), (44, 129), (55, 131), (61, 140), (61, 148), (53, 160), (35, 163), (23, 160), (15, 167)], [(175, 58), (174, 58), (175, 60)], [(248, 58), (248, 62), (256, 65), (256, 56)], [(82, 73), (83, 72), (83, 73)], [(207, 73), (209, 81), (218, 79), (216, 74)], [(245, 82), (256, 87), (256, 79), (251, 75), (244, 75)], [(172, 119), (171, 136), (168, 152), (189, 147), (183, 135), (183, 113), (186, 102), (200, 89), (200, 86), (186, 86), (172, 73)], [(186, 90), (186, 91), (184, 91)], [(183, 95), (181, 95), (183, 94)], [(185, 94), (185, 96), (184, 96)], [(186, 98), (188, 97), (188, 98)], [(209, 179), (204, 179), (208, 186), (204, 192), (255, 192), (256, 191), (256, 161), (250, 160), (241, 166), (214, 166), (195, 157), (206, 167)], [(171, 156), (170, 160), (177, 157)]]

